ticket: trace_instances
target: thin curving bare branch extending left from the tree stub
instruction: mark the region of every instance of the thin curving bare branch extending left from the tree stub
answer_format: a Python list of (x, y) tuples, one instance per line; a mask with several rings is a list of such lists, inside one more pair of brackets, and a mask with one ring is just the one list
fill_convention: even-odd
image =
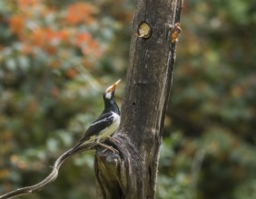
[(94, 149), (95, 144), (94, 143), (88, 143), (87, 145), (78, 147), (74, 150), (74, 148), (69, 149), (68, 151), (64, 152), (62, 156), (59, 156), (58, 159), (54, 162), (54, 167), (50, 175), (46, 176), (44, 180), (41, 182), (31, 185), (31, 186), (25, 186), (23, 188), (16, 189), (15, 191), (0, 195), (0, 199), (10, 199), (15, 198), (17, 196), (25, 195), (25, 194), (35, 194), (36, 192), (39, 192), (42, 188), (44, 188), (45, 185), (48, 185), (57, 178), (59, 169), (64, 163), (65, 160), (71, 158), (72, 156), (75, 156), (82, 151), (92, 150)]

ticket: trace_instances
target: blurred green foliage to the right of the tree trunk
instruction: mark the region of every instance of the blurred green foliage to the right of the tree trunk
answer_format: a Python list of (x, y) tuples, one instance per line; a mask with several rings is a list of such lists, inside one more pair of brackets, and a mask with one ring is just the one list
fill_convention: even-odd
[[(254, 1), (184, 2), (160, 162), (169, 178), (160, 175), (158, 198), (256, 196), (255, 9)], [(173, 132), (180, 141), (166, 146)], [(173, 195), (175, 187), (184, 189)]]

